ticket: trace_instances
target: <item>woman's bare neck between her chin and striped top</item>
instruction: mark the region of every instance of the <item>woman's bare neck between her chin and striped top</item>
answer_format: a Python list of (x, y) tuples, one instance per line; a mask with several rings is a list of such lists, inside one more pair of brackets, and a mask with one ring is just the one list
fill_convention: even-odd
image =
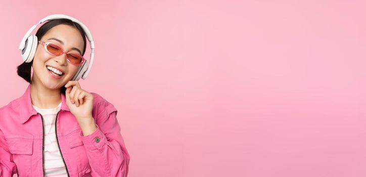
[(33, 79), (30, 85), (30, 97), (32, 105), (41, 109), (55, 108), (61, 102), (60, 89), (49, 89)]

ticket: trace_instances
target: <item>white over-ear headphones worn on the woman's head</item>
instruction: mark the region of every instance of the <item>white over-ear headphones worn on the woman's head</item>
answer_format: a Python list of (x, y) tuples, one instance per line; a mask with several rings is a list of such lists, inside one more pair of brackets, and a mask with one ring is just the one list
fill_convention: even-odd
[(28, 30), (28, 32), (24, 35), (24, 37), (19, 45), (19, 50), (21, 50), (21, 55), (22, 55), (23, 61), (25, 63), (30, 63), (34, 58), (35, 51), (36, 51), (36, 48), (38, 45), (38, 39), (37, 39), (36, 35), (30, 35), (30, 33), (37, 27), (37, 25), (43, 23), (44, 21), (61, 19), (61, 18), (69, 19), (73, 22), (78, 23), (84, 29), (85, 35), (90, 42), (90, 49), (91, 49), (90, 63), (87, 67), (87, 61), (85, 60), (83, 65), (81, 67), (79, 67), (76, 74), (74, 75), (74, 77), (71, 80), (79, 80), (80, 78), (85, 79), (86, 76), (88, 75), (88, 73), (90, 72), (91, 65), (93, 65), (93, 59), (94, 59), (93, 36), (91, 36), (89, 29), (83, 23), (81, 23), (79, 20), (77, 20), (73, 17), (67, 16), (67, 15), (54, 14), (54, 15), (47, 16), (47, 17), (43, 18), (42, 20), (40, 20), (37, 24), (33, 25)]

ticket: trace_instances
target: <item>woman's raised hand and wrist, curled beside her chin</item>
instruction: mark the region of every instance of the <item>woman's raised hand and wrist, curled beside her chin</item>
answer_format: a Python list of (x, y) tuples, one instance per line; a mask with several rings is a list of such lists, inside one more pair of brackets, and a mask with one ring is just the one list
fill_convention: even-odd
[(84, 136), (96, 129), (94, 118), (91, 115), (93, 110), (94, 97), (81, 89), (77, 80), (70, 80), (66, 83), (66, 104), (70, 112), (76, 117)]

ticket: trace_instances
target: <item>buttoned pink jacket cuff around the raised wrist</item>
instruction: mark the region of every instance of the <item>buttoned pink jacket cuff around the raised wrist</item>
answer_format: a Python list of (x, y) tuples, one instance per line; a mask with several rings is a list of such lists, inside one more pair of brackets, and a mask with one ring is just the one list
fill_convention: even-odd
[(84, 147), (89, 150), (101, 149), (106, 143), (106, 136), (103, 134), (99, 126), (90, 135), (83, 136), (82, 131), (80, 131), (80, 139), (84, 144)]

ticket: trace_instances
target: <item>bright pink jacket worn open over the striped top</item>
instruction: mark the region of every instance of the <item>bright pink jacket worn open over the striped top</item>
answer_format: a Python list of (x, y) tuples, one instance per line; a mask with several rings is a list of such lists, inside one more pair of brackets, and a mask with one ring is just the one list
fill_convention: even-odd
[[(69, 176), (127, 176), (129, 154), (124, 145), (116, 108), (94, 96), (97, 130), (83, 137), (76, 118), (61, 94), (56, 134)], [(33, 109), (30, 84), (24, 95), (0, 108), (0, 176), (43, 175), (43, 126)]]

